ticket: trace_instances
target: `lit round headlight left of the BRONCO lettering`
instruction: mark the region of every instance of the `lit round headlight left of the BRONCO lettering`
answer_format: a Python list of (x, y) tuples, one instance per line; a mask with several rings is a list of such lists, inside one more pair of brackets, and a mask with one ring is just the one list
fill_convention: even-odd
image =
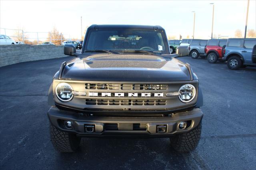
[(70, 101), (73, 98), (72, 87), (68, 83), (60, 83), (56, 87), (56, 96), (60, 101)]

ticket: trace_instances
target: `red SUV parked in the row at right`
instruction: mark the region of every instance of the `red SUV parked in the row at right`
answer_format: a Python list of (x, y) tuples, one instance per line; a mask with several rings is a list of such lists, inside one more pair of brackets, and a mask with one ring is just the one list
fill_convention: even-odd
[(208, 40), (204, 52), (209, 63), (216, 63), (218, 60), (222, 61), (227, 41), (224, 39)]

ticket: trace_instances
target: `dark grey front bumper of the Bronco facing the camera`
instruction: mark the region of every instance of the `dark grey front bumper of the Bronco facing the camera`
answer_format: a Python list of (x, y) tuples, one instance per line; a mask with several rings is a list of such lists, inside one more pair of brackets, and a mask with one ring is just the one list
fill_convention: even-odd
[[(51, 107), (48, 118), (52, 125), (59, 130), (75, 133), (79, 136), (151, 136), (168, 137), (173, 134), (189, 132), (199, 125), (203, 113), (199, 108), (188, 112), (176, 113), (169, 117), (98, 117), (84, 116), (78, 113), (61, 111)], [(71, 121), (73, 127), (66, 128), (65, 122)], [(188, 126), (180, 130), (178, 123), (187, 121)], [(86, 130), (87, 126), (93, 126), (93, 132)], [(114, 128), (109, 128), (109, 127)], [(166, 126), (165, 132), (158, 132), (158, 126)], [(135, 128), (136, 127), (136, 128)]]

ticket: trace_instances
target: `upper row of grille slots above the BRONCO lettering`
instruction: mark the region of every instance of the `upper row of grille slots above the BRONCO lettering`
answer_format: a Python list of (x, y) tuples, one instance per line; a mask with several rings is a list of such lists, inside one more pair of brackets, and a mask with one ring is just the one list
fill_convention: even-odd
[(99, 90), (166, 90), (165, 84), (108, 84), (108, 83), (86, 83), (85, 89)]

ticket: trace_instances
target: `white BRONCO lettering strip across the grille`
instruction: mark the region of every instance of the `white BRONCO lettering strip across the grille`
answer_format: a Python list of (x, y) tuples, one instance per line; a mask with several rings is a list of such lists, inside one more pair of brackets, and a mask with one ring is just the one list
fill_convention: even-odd
[(89, 92), (93, 97), (164, 97), (164, 93), (98, 93)]

